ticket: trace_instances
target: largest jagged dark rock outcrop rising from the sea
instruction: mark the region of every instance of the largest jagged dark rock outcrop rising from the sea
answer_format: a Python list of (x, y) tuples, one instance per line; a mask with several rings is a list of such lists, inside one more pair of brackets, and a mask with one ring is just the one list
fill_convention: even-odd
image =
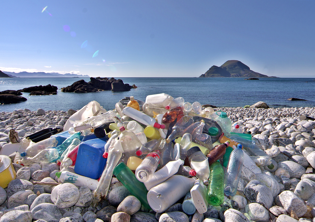
[(137, 88), (134, 85), (124, 84), (123, 80), (115, 78), (90, 78), (90, 82), (87, 83), (83, 79), (73, 83), (71, 86), (61, 88), (61, 92), (75, 92), (75, 93), (90, 93), (99, 92), (104, 90), (112, 91), (129, 91), (131, 88)]

